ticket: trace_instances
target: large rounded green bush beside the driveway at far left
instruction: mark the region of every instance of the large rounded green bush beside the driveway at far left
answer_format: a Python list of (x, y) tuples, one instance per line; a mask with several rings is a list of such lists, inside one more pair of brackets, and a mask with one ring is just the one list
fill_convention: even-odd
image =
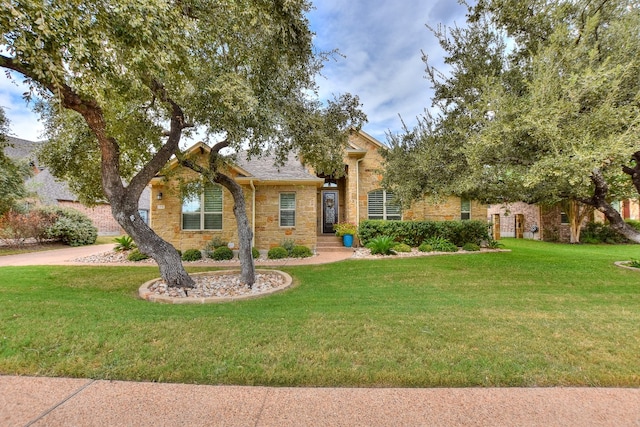
[(53, 224), (45, 232), (48, 239), (60, 240), (69, 246), (92, 245), (96, 242), (98, 229), (82, 212), (59, 206), (48, 206), (41, 211), (54, 218)]

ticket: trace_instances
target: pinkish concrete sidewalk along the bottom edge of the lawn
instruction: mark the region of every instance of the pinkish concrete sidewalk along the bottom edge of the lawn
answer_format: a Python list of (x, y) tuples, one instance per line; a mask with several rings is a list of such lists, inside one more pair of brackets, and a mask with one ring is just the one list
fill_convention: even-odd
[(638, 426), (640, 390), (270, 388), (0, 376), (1, 426)]

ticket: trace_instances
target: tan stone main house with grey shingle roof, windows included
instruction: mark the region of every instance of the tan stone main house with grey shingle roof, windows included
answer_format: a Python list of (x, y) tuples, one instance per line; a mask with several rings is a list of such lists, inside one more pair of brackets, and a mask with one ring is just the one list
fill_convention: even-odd
[[(353, 131), (344, 153), (344, 176), (318, 176), (291, 155), (277, 169), (273, 158), (253, 158), (238, 162), (228, 170), (244, 190), (253, 245), (267, 250), (285, 240), (293, 240), (316, 250), (322, 236), (333, 236), (333, 224), (365, 219), (485, 221), (487, 206), (450, 197), (438, 205), (415, 203), (401, 212), (392, 203), (393, 194), (381, 187), (380, 172), (385, 146), (363, 131)], [(189, 156), (202, 157), (209, 147), (197, 143)], [(179, 182), (196, 179), (195, 172), (182, 168), (176, 160), (168, 165), (168, 175), (151, 181), (150, 224), (154, 231), (177, 249), (204, 248), (212, 238), (237, 247), (238, 234), (233, 214), (233, 198), (224, 188), (207, 186), (203, 194), (182, 200)]]

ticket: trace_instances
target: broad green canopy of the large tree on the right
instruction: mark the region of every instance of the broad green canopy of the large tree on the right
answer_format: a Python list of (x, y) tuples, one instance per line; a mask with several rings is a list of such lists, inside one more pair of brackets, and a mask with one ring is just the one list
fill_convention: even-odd
[(467, 23), (435, 31), (452, 69), (426, 58), (436, 112), (391, 139), (387, 171), (418, 158), (424, 172), (387, 185), (407, 201), (579, 202), (640, 241), (610, 204), (640, 191), (638, 3), (481, 0)]

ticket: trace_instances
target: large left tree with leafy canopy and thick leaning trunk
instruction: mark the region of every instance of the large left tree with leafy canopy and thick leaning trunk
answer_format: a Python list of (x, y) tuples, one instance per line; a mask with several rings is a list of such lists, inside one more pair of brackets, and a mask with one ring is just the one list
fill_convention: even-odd
[[(305, 0), (4, 2), (0, 66), (44, 100), (53, 173), (86, 202), (106, 197), (163, 277), (191, 285), (175, 249), (137, 213), (183, 135), (246, 145), (250, 155), (296, 150), (329, 168), (344, 147), (331, 134), (345, 129), (316, 99), (325, 54), (313, 50), (309, 8)], [(355, 98), (338, 99), (339, 112)]]

